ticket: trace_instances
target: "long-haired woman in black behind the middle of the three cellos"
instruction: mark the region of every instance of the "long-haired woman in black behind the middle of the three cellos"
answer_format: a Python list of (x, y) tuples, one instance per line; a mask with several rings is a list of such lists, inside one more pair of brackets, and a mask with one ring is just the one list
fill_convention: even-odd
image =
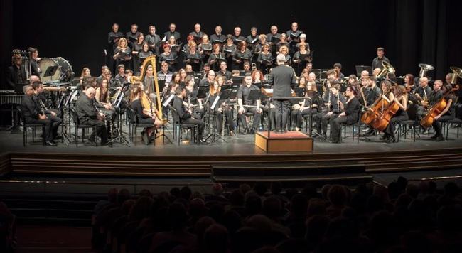
[(387, 140), (387, 142), (395, 142), (396, 137), (394, 136), (394, 129), (396, 128), (396, 124), (402, 122), (404, 120), (409, 119), (407, 116), (407, 92), (406, 88), (402, 85), (396, 85), (394, 87), (394, 97), (393, 102), (395, 102), (399, 109), (393, 115), (392, 119), (390, 119), (390, 123), (388, 124), (387, 128), (384, 130), (384, 135), (382, 139)]

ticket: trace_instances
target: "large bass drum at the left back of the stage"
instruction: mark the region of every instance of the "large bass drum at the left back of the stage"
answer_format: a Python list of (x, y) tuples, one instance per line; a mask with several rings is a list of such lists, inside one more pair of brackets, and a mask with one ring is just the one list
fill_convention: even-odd
[[(54, 73), (53, 71), (50, 71), (53, 70), (53, 68), (48, 70), (50, 67), (56, 68), (56, 71), (54, 71)], [(74, 77), (72, 66), (67, 60), (65, 60), (65, 58), (62, 57), (41, 58), (41, 60), (38, 62), (38, 68), (41, 69), (40, 79), (42, 82), (70, 82), (72, 77)]]

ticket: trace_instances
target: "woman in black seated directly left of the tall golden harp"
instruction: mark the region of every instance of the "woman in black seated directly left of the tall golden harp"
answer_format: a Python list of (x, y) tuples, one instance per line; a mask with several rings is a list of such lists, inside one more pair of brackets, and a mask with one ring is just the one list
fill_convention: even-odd
[[(151, 112), (150, 108), (144, 108), (141, 104), (141, 98), (143, 97), (143, 90), (141, 85), (134, 88), (132, 90), (132, 101), (130, 103), (131, 109), (134, 110), (136, 114), (136, 118), (138, 119), (138, 123), (140, 124), (153, 124), (151, 127), (146, 127), (141, 131), (141, 139), (143, 140), (144, 144), (148, 145), (152, 137), (155, 136), (155, 129), (154, 127), (160, 127), (162, 122), (159, 118), (157, 118), (156, 111)], [(155, 109), (155, 108), (154, 108)]]

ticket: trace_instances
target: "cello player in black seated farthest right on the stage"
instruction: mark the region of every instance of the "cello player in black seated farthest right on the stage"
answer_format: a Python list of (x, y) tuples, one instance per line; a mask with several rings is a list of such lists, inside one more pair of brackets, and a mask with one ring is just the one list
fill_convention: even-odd
[[(451, 84), (444, 85), (441, 88), (443, 94), (452, 89), (453, 86)], [(454, 103), (456, 101), (456, 95), (454, 94), (454, 92), (448, 92), (444, 99), (446, 100), (446, 107), (444, 107), (443, 111), (440, 114), (436, 115), (433, 124), (431, 124), (431, 126), (433, 126), (433, 128), (435, 129), (435, 134), (434, 136), (431, 136), (431, 139), (436, 139), (436, 141), (444, 141), (444, 136), (441, 133), (441, 122), (447, 122), (450, 119), (454, 119), (454, 116), (456, 114), (456, 109), (454, 106)]]

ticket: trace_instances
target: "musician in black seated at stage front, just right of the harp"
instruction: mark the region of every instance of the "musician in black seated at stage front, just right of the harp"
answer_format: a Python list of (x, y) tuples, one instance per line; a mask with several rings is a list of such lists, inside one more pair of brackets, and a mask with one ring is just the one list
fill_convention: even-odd
[(194, 119), (191, 117), (192, 109), (186, 109), (183, 104), (183, 99), (186, 97), (186, 87), (178, 87), (176, 88), (176, 96), (173, 98), (173, 109), (176, 110), (178, 113), (178, 117), (181, 124), (195, 124), (198, 125), (198, 136), (199, 136), (199, 143), (206, 143), (203, 139), (203, 132), (204, 132), (204, 122), (200, 119)]

